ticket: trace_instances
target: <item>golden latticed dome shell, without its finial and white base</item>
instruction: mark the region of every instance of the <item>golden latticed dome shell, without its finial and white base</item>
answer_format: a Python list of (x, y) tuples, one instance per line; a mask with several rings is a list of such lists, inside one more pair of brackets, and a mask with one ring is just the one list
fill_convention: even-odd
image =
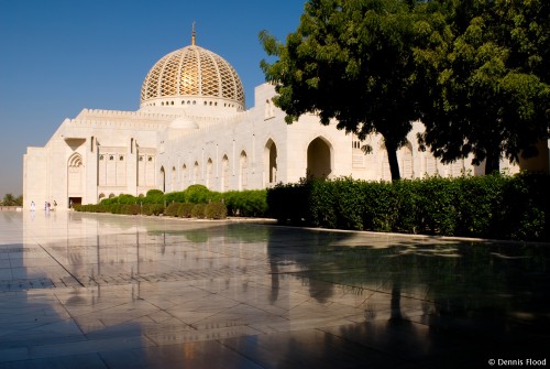
[(196, 45), (165, 55), (148, 72), (141, 101), (160, 97), (218, 97), (244, 107), (239, 75), (221, 56)]

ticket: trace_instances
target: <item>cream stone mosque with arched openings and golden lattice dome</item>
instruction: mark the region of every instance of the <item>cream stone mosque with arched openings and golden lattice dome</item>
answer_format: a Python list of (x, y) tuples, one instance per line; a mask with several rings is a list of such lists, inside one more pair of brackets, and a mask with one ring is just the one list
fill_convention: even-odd
[[(23, 196), (59, 209), (97, 204), (120, 194), (183, 191), (202, 184), (217, 192), (267, 188), (305, 176), (389, 181), (383, 141), (359, 141), (315, 115), (287, 124), (268, 84), (254, 90), (254, 106), (235, 69), (221, 56), (191, 44), (163, 56), (147, 73), (136, 111), (84, 109), (65, 119), (43, 148), (23, 158)], [(398, 152), (404, 178), (483, 173), (471, 160), (443, 165), (418, 150), (414, 123)], [(361, 146), (374, 150), (365, 154)], [(546, 143), (544, 143), (546, 145)], [(544, 149), (544, 148), (543, 148)], [(548, 152), (548, 148), (544, 149)], [(548, 154), (546, 158), (548, 171)], [(519, 166), (502, 163), (510, 173)]]

